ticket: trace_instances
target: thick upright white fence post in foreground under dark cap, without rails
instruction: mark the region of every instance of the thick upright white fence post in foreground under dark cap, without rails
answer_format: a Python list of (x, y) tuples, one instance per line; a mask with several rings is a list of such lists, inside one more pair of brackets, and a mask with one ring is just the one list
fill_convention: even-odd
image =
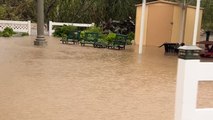
[(199, 62), (198, 59), (178, 60), (175, 120), (195, 120), (198, 82), (194, 74)]

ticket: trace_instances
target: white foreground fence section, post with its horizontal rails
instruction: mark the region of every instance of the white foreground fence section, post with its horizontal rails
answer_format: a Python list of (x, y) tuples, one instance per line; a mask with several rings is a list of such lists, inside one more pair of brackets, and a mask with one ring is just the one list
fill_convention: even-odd
[(198, 84), (213, 82), (213, 62), (178, 60), (175, 120), (213, 120), (213, 108), (197, 108)]

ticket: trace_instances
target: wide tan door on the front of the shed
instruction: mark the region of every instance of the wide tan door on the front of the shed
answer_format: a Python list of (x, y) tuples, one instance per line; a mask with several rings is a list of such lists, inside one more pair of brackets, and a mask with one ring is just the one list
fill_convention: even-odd
[(148, 46), (171, 42), (174, 6), (157, 3), (149, 6), (147, 41)]

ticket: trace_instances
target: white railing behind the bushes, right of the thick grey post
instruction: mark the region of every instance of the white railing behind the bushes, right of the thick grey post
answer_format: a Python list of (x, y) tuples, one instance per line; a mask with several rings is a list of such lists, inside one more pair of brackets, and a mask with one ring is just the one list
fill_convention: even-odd
[(62, 22), (52, 22), (49, 21), (49, 36), (52, 36), (52, 33), (55, 31), (53, 29), (53, 26), (63, 26), (63, 25), (71, 25), (71, 26), (77, 26), (77, 27), (92, 27), (95, 24), (84, 24), (84, 23), (62, 23)]

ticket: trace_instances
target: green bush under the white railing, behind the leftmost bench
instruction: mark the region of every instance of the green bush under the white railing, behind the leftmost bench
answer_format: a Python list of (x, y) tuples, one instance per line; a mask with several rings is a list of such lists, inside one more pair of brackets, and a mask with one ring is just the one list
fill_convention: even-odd
[(53, 33), (53, 36), (62, 37), (64, 34), (68, 35), (69, 32), (72, 32), (72, 31), (75, 31), (75, 30), (77, 30), (77, 27), (75, 27), (75, 26), (64, 25), (62, 27), (57, 27), (55, 29), (55, 32)]

